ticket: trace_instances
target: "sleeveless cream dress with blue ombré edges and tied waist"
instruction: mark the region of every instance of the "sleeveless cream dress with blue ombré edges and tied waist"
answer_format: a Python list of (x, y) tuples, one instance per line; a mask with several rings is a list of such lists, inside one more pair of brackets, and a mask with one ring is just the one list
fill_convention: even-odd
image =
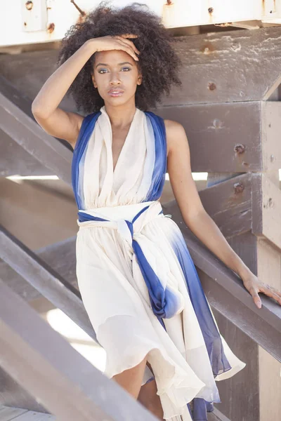
[(115, 169), (105, 107), (84, 118), (72, 159), (77, 281), (105, 375), (148, 354), (143, 385), (155, 378), (164, 418), (207, 421), (221, 402), (216, 381), (245, 363), (219, 333), (181, 229), (163, 214), (165, 174), (161, 117), (136, 109)]

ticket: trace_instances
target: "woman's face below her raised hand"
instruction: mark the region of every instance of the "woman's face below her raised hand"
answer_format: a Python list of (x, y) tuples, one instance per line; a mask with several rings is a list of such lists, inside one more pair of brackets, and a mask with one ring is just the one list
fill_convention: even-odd
[(141, 73), (136, 60), (122, 50), (98, 51), (93, 64), (93, 86), (105, 105), (123, 105), (135, 100)]

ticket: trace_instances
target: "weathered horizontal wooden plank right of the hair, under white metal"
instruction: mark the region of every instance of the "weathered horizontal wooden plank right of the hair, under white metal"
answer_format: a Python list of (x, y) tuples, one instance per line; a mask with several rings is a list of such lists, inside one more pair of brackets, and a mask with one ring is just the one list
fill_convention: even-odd
[(183, 84), (163, 104), (267, 100), (281, 82), (280, 36), (277, 26), (176, 37)]

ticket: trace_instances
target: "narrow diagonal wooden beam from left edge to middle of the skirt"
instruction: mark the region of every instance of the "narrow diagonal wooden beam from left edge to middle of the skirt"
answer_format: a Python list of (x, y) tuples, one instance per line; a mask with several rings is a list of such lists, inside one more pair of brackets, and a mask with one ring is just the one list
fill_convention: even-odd
[(0, 230), (0, 245), (1, 258), (8, 265), (98, 342), (77, 288), (63, 279), (4, 227)]

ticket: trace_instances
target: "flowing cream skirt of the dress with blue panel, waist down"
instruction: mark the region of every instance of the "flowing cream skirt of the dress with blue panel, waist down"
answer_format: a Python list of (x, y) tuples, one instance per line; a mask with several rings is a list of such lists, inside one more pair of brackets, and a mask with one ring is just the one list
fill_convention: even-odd
[[(181, 230), (161, 208), (151, 201), (81, 211), (78, 286), (106, 352), (105, 375), (148, 355), (153, 375), (146, 366), (142, 385), (155, 378), (164, 418), (207, 421), (207, 411), (221, 402), (216, 381), (246, 364), (219, 333)], [(155, 310), (167, 298), (159, 278), (181, 303), (173, 316)], [(162, 304), (166, 315), (173, 311), (173, 303)]]

